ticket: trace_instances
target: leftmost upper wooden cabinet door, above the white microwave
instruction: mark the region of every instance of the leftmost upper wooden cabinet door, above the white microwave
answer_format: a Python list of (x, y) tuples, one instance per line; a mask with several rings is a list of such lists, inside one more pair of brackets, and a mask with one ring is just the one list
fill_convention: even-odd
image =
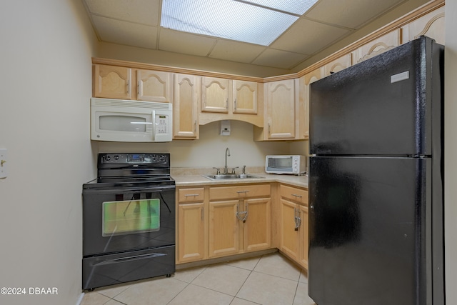
[(95, 64), (94, 96), (131, 99), (131, 69), (124, 66)]

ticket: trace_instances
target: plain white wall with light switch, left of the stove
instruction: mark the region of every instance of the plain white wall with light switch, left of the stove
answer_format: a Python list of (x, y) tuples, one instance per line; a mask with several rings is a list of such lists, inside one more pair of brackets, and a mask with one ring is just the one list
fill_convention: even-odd
[(93, 30), (80, 0), (20, 0), (0, 9), (0, 304), (76, 304), (81, 295), (81, 185), (91, 178)]

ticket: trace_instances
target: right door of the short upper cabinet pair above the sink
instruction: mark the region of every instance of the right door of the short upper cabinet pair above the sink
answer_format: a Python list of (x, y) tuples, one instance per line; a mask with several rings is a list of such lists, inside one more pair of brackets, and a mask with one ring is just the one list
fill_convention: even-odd
[(233, 113), (257, 114), (257, 83), (233, 81)]

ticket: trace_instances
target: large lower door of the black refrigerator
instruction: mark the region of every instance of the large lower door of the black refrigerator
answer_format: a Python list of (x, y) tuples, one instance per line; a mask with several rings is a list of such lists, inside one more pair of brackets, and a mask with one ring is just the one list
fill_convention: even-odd
[(432, 304), (430, 174), (427, 158), (310, 158), (316, 304)]

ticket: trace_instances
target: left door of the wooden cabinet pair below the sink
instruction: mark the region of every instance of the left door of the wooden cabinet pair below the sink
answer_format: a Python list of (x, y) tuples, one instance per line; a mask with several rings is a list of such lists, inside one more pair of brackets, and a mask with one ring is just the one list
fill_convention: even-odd
[(209, 257), (240, 252), (240, 226), (236, 218), (238, 200), (209, 203)]

